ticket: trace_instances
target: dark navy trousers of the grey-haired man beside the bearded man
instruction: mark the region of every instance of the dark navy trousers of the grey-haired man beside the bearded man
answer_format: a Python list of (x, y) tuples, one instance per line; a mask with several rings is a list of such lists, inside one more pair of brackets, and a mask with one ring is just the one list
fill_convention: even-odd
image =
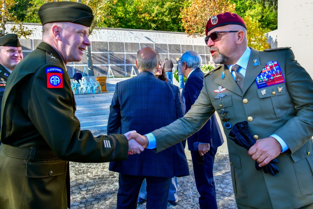
[(215, 185), (213, 179), (213, 163), (217, 148), (210, 149), (203, 155), (203, 164), (199, 164), (200, 154), (198, 151), (191, 151), (193, 172), (195, 175), (196, 185), (201, 209), (217, 209)]

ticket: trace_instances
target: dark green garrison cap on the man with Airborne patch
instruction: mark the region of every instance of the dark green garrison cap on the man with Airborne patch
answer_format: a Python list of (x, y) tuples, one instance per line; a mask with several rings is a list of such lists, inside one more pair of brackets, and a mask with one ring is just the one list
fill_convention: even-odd
[(91, 26), (94, 15), (85, 4), (77, 2), (49, 2), (38, 11), (41, 24), (52, 22), (72, 22), (87, 27)]

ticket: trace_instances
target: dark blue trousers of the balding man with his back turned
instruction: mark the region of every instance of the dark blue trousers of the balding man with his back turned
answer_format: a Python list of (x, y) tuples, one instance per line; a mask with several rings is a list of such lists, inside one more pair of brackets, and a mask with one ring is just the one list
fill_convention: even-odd
[(149, 209), (166, 209), (167, 197), (172, 178), (154, 176), (119, 175), (117, 209), (136, 209), (142, 181), (147, 181), (147, 203)]

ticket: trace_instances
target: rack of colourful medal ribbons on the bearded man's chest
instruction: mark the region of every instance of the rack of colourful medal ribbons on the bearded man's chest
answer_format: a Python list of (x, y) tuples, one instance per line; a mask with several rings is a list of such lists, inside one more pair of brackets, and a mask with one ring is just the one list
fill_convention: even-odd
[(266, 63), (262, 72), (255, 79), (258, 89), (264, 88), (266, 86), (272, 86), (279, 83), (284, 83), (284, 77), (281, 73), (280, 66), (278, 62), (270, 61)]

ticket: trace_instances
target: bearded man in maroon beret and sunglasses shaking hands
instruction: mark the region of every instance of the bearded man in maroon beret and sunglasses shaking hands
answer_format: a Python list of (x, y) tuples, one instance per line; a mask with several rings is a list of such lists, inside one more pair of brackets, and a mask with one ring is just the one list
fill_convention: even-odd
[[(205, 75), (198, 99), (183, 118), (147, 134), (148, 148), (159, 152), (182, 141), (215, 111), (226, 136), (234, 124), (248, 121), (257, 139), (249, 151), (227, 139), (238, 208), (313, 208), (311, 77), (288, 48), (247, 47), (246, 25), (237, 14), (214, 15), (206, 34), (213, 62), (222, 65)], [(131, 135), (142, 144), (147, 140)], [(255, 160), (264, 166), (274, 158), (279, 160), (275, 176), (255, 169)]]

